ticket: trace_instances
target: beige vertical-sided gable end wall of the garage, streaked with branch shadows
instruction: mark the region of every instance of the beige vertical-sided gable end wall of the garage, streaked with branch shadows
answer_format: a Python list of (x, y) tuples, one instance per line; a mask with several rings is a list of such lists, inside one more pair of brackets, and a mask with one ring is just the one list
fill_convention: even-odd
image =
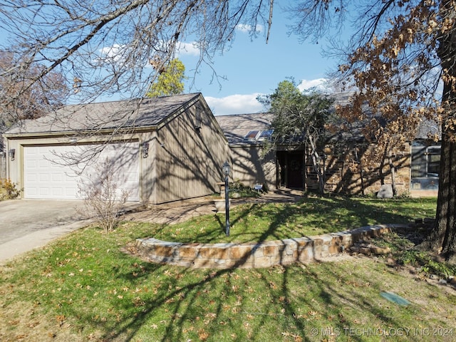
[[(197, 123), (197, 115), (200, 123)], [(222, 164), (229, 159), (229, 148), (203, 101), (185, 108), (158, 130), (156, 158), (155, 203), (218, 191), (216, 183), (222, 180)]]

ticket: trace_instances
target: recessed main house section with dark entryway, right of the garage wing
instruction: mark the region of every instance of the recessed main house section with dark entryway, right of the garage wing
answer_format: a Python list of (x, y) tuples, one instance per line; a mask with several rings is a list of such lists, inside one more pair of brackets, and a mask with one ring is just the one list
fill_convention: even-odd
[[(347, 98), (337, 99), (340, 103)], [(265, 139), (271, 135), (271, 113), (223, 115), (215, 117), (229, 142), (232, 159), (232, 178), (253, 187), (260, 183), (269, 189), (291, 188), (318, 189), (318, 178), (309, 151), (304, 144), (277, 146), (267, 155), (262, 153)], [(437, 196), (438, 162), (440, 147), (430, 144), (425, 133), (417, 140), (407, 142), (393, 154), (397, 167), (395, 183), (400, 194), (415, 197)], [(362, 195), (378, 192), (381, 186), (378, 167), (360, 169), (354, 165), (362, 154), (378, 153), (376, 146), (355, 142), (353, 147), (336, 146), (338, 135), (320, 151), (324, 160), (325, 190), (346, 195)], [(346, 140), (343, 140), (344, 142)], [(359, 147), (361, 146), (361, 147)], [(389, 166), (383, 169), (385, 182), (391, 182)]]

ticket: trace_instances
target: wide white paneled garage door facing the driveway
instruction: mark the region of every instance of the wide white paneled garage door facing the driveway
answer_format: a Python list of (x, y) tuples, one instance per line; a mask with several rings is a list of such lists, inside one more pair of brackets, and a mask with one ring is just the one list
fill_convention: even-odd
[(82, 199), (80, 188), (96, 182), (108, 163), (118, 192), (126, 190), (129, 201), (139, 201), (138, 142), (109, 144), (89, 161), (68, 165), (71, 157), (79, 159), (95, 150), (100, 149), (94, 145), (24, 147), (24, 197)]

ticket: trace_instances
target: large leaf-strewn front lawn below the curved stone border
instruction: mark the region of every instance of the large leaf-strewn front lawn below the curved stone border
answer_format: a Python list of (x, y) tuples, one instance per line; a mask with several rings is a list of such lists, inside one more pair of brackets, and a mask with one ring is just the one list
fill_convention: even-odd
[(0, 340), (454, 341), (454, 289), (380, 260), (214, 270), (121, 252), (149, 233), (87, 227), (1, 266)]

